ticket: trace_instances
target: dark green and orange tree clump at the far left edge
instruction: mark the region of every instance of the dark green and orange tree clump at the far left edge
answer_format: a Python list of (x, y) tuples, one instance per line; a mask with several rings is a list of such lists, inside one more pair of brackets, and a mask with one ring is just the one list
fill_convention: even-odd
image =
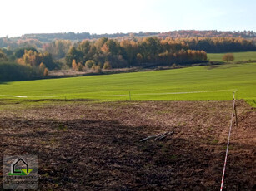
[(0, 81), (19, 81), (48, 76), (48, 70), (60, 69), (61, 63), (53, 61), (48, 52), (33, 47), (16, 51), (0, 49)]

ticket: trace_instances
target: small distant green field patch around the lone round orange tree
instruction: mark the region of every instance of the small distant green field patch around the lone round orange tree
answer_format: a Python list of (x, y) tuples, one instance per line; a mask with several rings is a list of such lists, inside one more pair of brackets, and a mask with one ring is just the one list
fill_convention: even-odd
[[(256, 51), (246, 51), (246, 52), (231, 52), (234, 56), (234, 61), (256, 61)], [(210, 61), (223, 61), (223, 55), (225, 53), (208, 53), (208, 59)]]

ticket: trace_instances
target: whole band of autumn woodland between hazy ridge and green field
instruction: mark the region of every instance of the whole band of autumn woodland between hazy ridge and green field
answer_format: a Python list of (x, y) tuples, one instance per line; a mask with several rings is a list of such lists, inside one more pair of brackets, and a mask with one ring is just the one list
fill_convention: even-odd
[[(101, 37), (77, 42), (57, 39), (48, 43), (27, 39), (0, 49), (2, 68), (11, 68), (1, 70), (0, 73), (11, 72), (16, 65), (24, 66), (23, 70), (19, 70), (26, 71), (23, 72), (27, 76), (24, 79), (48, 76), (49, 70), (68, 68), (75, 71), (89, 69), (101, 73), (102, 69), (148, 64), (188, 66), (207, 62), (207, 52), (231, 51), (256, 51), (256, 44), (252, 39), (242, 37)], [(3, 76), (6, 74), (2, 75), (0, 81), (17, 80), (14, 76)]]

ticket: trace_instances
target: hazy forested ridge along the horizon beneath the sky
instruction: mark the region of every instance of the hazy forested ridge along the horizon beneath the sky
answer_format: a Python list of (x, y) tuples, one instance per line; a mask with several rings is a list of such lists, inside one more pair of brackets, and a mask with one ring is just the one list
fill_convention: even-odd
[[(101, 37), (108, 38), (118, 38), (118, 37), (173, 37), (173, 38), (183, 38), (183, 37), (243, 37), (243, 38), (255, 38), (256, 32), (253, 31), (243, 31), (243, 32), (222, 32), (217, 30), (211, 31), (197, 31), (197, 30), (180, 30), (180, 31), (170, 31), (170, 32), (129, 32), (129, 33), (113, 33), (113, 34), (90, 34), (89, 32), (58, 32), (58, 33), (32, 33), (24, 34), (21, 37), (11, 37), (11, 41), (22, 41), (28, 39), (38, 40), (40, 42), (53, 42), (55, 39), (66, 39), (71, 41), (82, 41), (83, 39), (98, 39)], [(7, 37), (0, 38), (1, 40)]]

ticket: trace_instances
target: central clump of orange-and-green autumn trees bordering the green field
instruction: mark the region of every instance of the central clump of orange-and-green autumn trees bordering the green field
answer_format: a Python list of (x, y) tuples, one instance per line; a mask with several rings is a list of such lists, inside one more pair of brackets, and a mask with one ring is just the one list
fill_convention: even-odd
[(205, 51), (189, 50), (183, 42), (171, 38), (146, 37), (121, 41), (103, 37), (97, 41), (76, 43), (66, 56), (68, 66), (72, 62), (94, 61), (98, 66), (120, 68), (127, 66), (193, 64), (207, 61)]

